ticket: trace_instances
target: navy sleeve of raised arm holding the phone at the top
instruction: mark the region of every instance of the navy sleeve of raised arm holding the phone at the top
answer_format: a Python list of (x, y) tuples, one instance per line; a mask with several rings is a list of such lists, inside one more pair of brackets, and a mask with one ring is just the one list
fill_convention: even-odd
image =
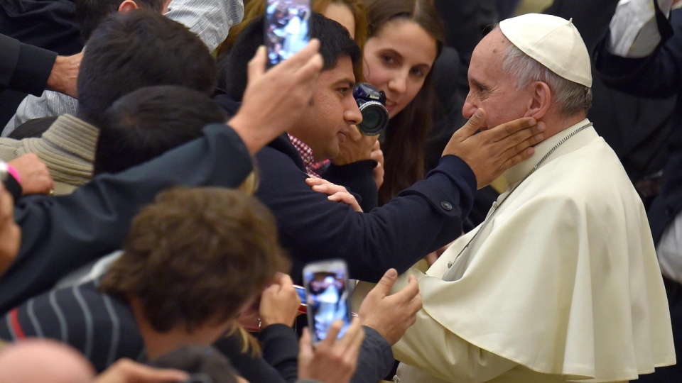
[(139, 167), (102, 174), (70, 196), (22, 199), (21, 248), (0, 277), (0, 312), (53, 287), (68, 272), (121, 248), (131, 219), (173, 186), (236, 187), (251, 172), (239, 135), (222, 124)]

